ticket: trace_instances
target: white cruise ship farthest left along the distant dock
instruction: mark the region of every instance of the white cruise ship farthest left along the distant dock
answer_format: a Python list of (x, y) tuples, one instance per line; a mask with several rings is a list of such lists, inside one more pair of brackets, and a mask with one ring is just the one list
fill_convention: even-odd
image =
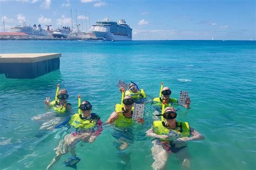
[(23, 26), (18, 25), (14, 26), (10, 29), (9, 32), (23, 32), (29, 35), (29, 37), (45, 37), (48, 36), (48, 33), (42, 29), (41, 25), (39, 24), (36, 26), (36, 24), (32, 26), (27, 26), (25, 23), (23, 23)]

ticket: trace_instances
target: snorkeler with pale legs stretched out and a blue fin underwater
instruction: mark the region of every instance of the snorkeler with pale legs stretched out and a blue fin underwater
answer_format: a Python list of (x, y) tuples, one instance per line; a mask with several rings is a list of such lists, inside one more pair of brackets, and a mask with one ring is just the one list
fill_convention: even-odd
[(100, 121), (100, 117), (91, 113), (92, 105), (90, 102), (83, 101), (82, 104), (80, 104), (79, 109), (82, 110), (82, 113), (74, 114), (69, 121), (69, 125), (76, 129), (75, 132), (67, 134), (64, 137), (64, 140), (59, 142), (59, 145), (55, 148), (56, 156), (52, 159), (46, 169), (50, 169), (62, 155), (68, 152), (70, 152), (72, 156), (63, 163), (70, 167), (76, 166), (80, 161), (75, 154), (76, 145), (80, 141), (93, 143), (103, 130), (103, 122)]

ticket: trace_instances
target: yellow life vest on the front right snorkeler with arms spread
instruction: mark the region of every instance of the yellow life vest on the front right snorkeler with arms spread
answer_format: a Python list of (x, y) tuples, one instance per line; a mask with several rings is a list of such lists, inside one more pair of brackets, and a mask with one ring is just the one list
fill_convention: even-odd
[[(163, 124), (164, 124), (164, 122), (162, 122), (162, 121), (154, 121), (153, 122), (154, 133), (159, 134), (159, 135), (169, 134), (170, 129), (165, 128), (165, 126)], [(177, 126), (177, 128), (172, 129), (172, 130), (181, 134), (181, 137), (190, 137), (191, 132), (190, 132), (190, 125), (188, 124), (188, 122), (179, 122), (178, 121), (176, 126)]]

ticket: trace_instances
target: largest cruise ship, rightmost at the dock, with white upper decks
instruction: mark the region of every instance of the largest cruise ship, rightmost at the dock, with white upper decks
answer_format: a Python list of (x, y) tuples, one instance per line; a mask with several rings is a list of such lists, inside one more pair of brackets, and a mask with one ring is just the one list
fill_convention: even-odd
[(125, 23), (124, 19), (119, 22), (114, 22), (108, 18), (105, 20), (98, 20), (95, 25), (92, 25), (90, 32), (95, 35), (97, 39), (104, 39), (107, 41), (129, 41), (132, 40), (132, 29)]

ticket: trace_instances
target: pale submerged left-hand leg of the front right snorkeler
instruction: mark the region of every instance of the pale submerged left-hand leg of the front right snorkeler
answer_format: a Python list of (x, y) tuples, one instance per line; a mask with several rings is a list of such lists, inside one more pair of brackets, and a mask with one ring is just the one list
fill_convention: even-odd
[(154, 162), (152, 164), (153, 169), (163, 169), (167, 159), (169, 158), (169, 153), (164, 150), (163, 146), (158, 145), (156, 140), (152, 141), (153, 147), (151, 148)]

